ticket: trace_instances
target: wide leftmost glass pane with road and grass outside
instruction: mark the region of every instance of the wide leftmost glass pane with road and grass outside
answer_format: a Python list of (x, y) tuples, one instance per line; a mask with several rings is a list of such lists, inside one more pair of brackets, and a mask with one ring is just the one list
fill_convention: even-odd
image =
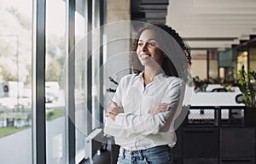
[(32, 0), (0, 0), (0, 162), (32, 163)]

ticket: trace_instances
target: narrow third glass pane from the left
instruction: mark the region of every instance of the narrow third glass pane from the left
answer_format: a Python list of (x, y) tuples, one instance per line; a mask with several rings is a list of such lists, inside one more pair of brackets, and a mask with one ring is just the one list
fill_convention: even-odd
[(76, 162), (84, 158), (84, 139), (87, 132), (87, 38), (85, 35), (85, 1), (76, 1), (75, 12), (75, 126)]

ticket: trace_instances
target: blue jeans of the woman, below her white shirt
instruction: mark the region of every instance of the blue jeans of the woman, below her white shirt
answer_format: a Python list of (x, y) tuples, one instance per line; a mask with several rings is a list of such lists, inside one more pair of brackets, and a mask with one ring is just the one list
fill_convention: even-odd
[(146, 150), (119, 150), (118, 164), (172, 164), (173, 156), (168, 145), (155, 146)]

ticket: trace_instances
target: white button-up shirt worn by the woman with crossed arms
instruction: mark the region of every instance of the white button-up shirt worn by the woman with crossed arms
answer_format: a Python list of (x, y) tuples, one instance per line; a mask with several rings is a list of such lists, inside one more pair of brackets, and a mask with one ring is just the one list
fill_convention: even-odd
[[(123, 105), (113, 121), (106, 118), (104, 132), (115, 138), (115, 143), (126, 150), (144, 150), (169, 144), (177, 139), (174, 118), (182, 108), (183, 81), (174, 76), (159, 74), (144, 87), (143, 73), (124, 76), (113, 96), (113, 101)], [(170, 110), (150, 114), (160, 103), (168, 103)]]

